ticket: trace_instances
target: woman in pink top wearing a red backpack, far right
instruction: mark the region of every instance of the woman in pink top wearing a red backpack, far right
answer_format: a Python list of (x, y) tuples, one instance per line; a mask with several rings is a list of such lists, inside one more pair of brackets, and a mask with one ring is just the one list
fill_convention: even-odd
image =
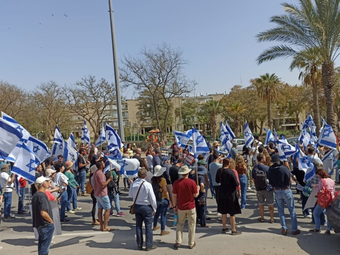
[[(310, 229), (309, 232), (319, 233), (321, 231), (320, 214), (324, 213), (326, 209), (326, 215), (328, 216), (331, 208), (331, 202), (334, 199), (335, 194), (335, 182), (331, 179), (331, 176), (324, 169), (317, 169), (315, 175), (320, 178), (318, 185), (312, 185), (314, 189), (317, 189), (317, 205), (313, 211), (315, 228)], [(331, 223), (327, 220), (326, 235), (330, 235), (332, 230)]]

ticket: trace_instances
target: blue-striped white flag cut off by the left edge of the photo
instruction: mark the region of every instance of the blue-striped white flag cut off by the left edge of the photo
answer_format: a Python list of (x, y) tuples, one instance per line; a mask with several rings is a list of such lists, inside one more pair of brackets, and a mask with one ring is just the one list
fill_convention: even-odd
[(0, 119), (0, 156), (7, 159), (22, 137), (22, 132), (16, 127)]

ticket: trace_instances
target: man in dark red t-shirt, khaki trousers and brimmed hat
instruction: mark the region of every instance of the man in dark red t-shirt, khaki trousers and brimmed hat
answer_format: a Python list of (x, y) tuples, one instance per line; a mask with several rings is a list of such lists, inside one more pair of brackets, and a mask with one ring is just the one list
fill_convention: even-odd
[(196, 208), (194, 198), (199, 195), (200, 186), (196, 186), (195, 181), (188, 178), (190, 171), (191, 169), (187, 165), (182, 165), (178, 171), (182, 178), (176, 180), (172, 187), (173, 210), (178, 215), (176, 243), (173, 245), (176, 248), (181, 246), (183, 226), (186, 219), (188, 219), (189, 228), (189, 249), (196, 246)]

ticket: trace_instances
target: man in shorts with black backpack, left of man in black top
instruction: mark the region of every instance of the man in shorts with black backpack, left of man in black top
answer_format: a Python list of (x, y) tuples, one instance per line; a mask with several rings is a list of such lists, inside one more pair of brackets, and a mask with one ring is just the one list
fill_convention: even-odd
[(259, 203), (260, 218), (257, 220), (262, 223), (265, 222), (264, 211), (265, 201), (267, 201), (269, 214), (271, 216), (270, 223), (274, 223), (274, 192), (267, 178), (269, 166), (265, 165), (266, 157), (262, 153), (258, 154), (256, 159), (259, 163), (254, 166), (251, 177), (253, 183), (255, 183), (256, 196)]

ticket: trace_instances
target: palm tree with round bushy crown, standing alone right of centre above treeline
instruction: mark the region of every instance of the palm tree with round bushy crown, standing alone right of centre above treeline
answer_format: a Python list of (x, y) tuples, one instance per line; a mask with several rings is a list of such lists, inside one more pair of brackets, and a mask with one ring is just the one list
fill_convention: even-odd
[(281, 80), (275, 73), (266, 73), (251, 82), (255, 85), (258, 96), (267, 101), (268, 127), (272, 128), (272, 100), (276, 99)]

